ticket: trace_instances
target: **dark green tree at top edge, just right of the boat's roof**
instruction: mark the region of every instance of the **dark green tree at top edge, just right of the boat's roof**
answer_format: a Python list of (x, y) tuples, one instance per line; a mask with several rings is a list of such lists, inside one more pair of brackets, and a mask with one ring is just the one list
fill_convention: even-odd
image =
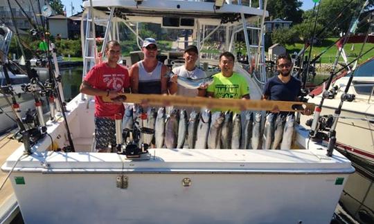
[(299, 24), (303, 20), (303, 3), (299, 0), (269, 0), (267, 2), (267, 11), (274, 19), (280, 18)]

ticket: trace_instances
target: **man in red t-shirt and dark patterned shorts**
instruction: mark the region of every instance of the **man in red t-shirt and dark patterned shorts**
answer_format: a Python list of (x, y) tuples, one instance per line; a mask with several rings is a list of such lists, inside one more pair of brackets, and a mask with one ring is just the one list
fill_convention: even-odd
[(80, 93), (95, 96), (95, 137), (98, 152), (107, 152), (109, 143), (112, 144), (112, 149), (116, 145), (114, 115), (123, 115), (125, 112), (123, 102), (104, 102), (103, 96), (114, 99), (123, 91), (130, 93), (129, 72), (117, 63), (121, 57), (118, 41), (108, 42), (105, 55), (107, 62), (94, 66), (80, 85)]

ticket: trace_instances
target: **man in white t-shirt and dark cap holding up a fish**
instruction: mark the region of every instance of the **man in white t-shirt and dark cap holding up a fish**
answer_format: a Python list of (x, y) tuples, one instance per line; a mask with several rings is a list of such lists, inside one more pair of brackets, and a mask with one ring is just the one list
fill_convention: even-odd
[(196, 46), (190, 45), (184, 50), (184, 65), (177, 68), (172, 68), (173, 75), (170, 79), (169, 92), (170, 94), (183, 95), (188, 97), (195, 96), (206, 96), (206, 86), (200, 86), (197, 89), (186, 88), (177, 83), (178, 76), (190, 77), (191, 79), (200, 79), (206, 77), (206, 74), (202, 69), (197, 68), (195, 63), (197, 57), (199, 57), (199, 52)]

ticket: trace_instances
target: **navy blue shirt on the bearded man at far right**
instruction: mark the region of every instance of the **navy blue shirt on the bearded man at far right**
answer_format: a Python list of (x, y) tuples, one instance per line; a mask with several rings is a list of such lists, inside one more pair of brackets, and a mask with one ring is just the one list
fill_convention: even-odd
[(267, 96), (267, 100), (296, 101), (300, 89), (301, 82), (296, 77), (291, 76), (289, 82), (283, 83), (276, 75), (267, 80), (263, 94)]

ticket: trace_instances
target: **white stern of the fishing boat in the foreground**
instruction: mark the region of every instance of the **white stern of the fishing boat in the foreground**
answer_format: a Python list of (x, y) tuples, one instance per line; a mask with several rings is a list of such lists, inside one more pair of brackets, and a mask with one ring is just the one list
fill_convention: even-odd
[[(99, 153), (53, 153), (48, 168), (40, 166), (44, 156), (21, 162), (10, 180), (25, 223), (329, 223), (353, 171), (349, 163), (323, 168), (305, 150), (283, 156), (265, 150), (156, 151), (154, 160), (124, 165), (122, 156)], [(212, 161), (189, 161), (203, 153)], [(301, 161), (302, 154), (310, 162)], [(169, 161), (173, 156), (179, 159)], [(127, 189), (116, 187), (121, 174)], [(184, 178), (190, 178), (189, 187)]]

